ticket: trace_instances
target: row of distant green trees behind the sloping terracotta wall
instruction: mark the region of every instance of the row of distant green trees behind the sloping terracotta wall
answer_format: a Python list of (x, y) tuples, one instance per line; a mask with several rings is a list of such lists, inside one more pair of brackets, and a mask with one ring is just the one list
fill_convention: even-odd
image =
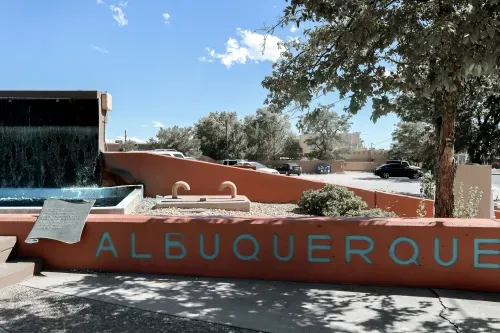
[[(350, 153), (342, 141), (342, 134), (350, 130), (350, 117), (338, 115), (331, 108), (331, 105), (319, 105), (300, 116), (298, 129), (311, 133), (306, 143), (317, 147), (306, 157), (345, 158)], [(210, 112), (194, 126), (160, 128), (148, 144), (150, 149), (176, 149), (186, 156), (198, 158), (204, 155), (215, 160), (246, 158), (265, 161), (303, 156), (289, 117), (273, 112), (271, 108), (260, 108), (243, 119), (232, 111)], [(133, 151), (138, 145), (128, 140), (121, 142), (118, 149)]]

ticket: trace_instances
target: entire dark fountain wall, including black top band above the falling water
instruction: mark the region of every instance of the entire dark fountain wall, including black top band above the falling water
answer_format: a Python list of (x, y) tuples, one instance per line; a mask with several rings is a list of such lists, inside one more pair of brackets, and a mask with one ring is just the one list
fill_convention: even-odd
[(0, 97), (0, 187), (98, 186), (100, 100)]

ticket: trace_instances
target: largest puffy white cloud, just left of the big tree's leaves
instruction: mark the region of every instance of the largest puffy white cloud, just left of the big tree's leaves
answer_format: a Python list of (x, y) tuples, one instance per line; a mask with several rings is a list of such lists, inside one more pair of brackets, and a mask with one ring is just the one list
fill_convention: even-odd
[(263, 51), (264, 35), (249, 30), (238, 28), (237, 34), (239, 41), (235, 38), (229, 38), (226, 42), (226, 52), (217, 53), (214, 49), (207, 48), (210, 58), (219, 59), (222, 64), (230, 68), (233, 64), (246, 64), (247, 61), (276, 61), (279, 59), (282, 42), (276, 36), (267, 36), (266, 47)]

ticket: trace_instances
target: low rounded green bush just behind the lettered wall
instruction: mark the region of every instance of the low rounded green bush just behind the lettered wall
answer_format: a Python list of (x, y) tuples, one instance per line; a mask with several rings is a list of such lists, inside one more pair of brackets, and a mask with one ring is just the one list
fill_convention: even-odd
[(354, 192), (330, 184), (320, 190), (305, 191), (298, 205), (304, 213), (316, 216), (397, 217), (381, 209), (366, 209), (366, 202)]

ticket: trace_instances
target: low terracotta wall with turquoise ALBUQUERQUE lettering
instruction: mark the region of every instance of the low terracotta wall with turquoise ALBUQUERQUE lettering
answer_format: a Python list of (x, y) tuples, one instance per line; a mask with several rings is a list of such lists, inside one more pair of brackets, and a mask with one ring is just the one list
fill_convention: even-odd
[(493, 220), (94, 215), (77, 244), (26, 244), (34, 220), (0, 215), (0, 235), (17, 236), (18, 255), (56, 269), (500, 292), (500, 223)]

